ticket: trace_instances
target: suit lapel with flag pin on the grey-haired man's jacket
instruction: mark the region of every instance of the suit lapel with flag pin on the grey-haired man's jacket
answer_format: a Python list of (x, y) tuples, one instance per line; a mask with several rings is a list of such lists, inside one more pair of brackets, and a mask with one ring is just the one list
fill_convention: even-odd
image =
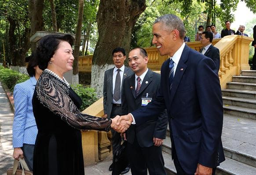
[(189, 47), (185, 45), (183, 52), (181, 54), (181, 57), (179, 59), (179, 63), (177, 65), (174, 78), (172, 80), (172, 89), (170, 91), (170, 104), (172, 103), (172, 99), (177, 91), (179, 82), (182, 79), (182, 76), (187, 69), (187, 65), (185, 63), (187, 62), (187, 59), (188, 59), (188, 53), (189, 53)]

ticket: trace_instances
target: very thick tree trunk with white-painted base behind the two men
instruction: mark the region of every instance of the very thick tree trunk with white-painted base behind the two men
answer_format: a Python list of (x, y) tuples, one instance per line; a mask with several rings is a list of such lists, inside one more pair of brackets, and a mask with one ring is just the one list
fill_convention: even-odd
[(113, 67), (112, 51), (130, 49), (132, 29), (146, 9), (146, 0), (101, 0), (97, 13), (99, 40), (95, 47), (91, 69), (91, 87), (102, 96), (103, 75)]

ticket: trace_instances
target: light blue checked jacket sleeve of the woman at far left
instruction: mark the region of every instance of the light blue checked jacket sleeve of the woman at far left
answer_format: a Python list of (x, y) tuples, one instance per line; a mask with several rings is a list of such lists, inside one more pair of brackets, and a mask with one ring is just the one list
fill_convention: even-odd
[(24, 129), (26, 125), (27, 94), (22, 84), (16, 84), (13, 92), (15, 112), (12, 127), (13, 147), (23, 146)]

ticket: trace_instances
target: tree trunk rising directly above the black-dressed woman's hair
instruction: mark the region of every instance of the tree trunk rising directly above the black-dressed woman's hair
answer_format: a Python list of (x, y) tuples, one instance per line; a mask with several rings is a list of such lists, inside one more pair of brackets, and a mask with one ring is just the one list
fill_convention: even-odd
[[(31, 24), (30, 36), (32, 36), (36, 31), (43, 31), (43, 9), (44, 0), (29, 0), (29, 19)], [(31, 50), (34, 52), (37, 48), (37, 43), (31, 43)]]

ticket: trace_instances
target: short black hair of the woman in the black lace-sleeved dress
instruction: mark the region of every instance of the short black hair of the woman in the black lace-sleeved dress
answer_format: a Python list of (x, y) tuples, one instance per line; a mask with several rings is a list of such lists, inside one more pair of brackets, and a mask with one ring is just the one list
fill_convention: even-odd
[(59, 48), (59, 43), (62, 41), (68, 42), (71, 46), (74, 43), (74, 38), (71, 35), (46, 35), (39, 40), (36, 57), (38, 59), (38, 66), (41, 70), (45, 70), (49, 61)]

